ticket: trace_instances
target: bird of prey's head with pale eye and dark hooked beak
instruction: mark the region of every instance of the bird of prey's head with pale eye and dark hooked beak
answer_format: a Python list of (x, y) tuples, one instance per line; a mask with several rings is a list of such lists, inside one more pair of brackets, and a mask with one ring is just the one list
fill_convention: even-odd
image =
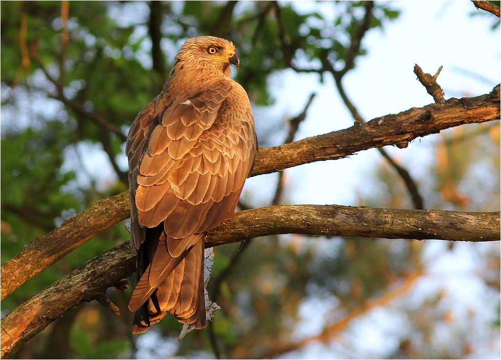
[(199, 36), (186, 40), (176, 55), (176, 60), (209, 66), (226, 76), (230, 75), (230, 65), (236, 65), (237, 69), (240, 65), (233, 43), (215, 36)]

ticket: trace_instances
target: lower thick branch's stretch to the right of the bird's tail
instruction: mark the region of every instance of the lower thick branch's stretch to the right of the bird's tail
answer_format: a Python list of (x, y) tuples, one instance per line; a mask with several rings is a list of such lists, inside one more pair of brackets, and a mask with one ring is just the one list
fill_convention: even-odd
[(245, 210), (207, 233), (207, 247), (278, 234), (499, 241), (499, 212), (283, 205)]

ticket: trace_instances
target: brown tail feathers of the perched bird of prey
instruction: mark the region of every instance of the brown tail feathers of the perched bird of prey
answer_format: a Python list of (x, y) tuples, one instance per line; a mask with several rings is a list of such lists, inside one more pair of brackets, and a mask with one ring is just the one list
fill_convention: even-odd
[(129, 302), (129, 309), (136, 312), (133, 333), (145, 332), (167, 312), (195, 328), (206, 326), (204, 248), (204, 234), (172, 239), (162, 230), (156, 249), (138, 254), (140, 279)]

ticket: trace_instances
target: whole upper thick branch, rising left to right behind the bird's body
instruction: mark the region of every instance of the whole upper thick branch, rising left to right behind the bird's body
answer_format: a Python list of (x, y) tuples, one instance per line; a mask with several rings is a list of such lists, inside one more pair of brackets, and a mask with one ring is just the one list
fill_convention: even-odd
[[(309, 137), (256, 155), (253, 176), (314, 161), (338, 159), (361, 150), (385, 145), (406, 147), (408, 142), (440, 130), (467, 123), (499, 119), (499, 85), (490, 94), (449, 99), (440, 104), (386, 115), (344, 130)], [(7, 295), (54, 262), (103, 230), (129, 217), (128, 192), (104, 199), (65, 221), (51, 233), (28, 244), (2, 266), (0, 296)]]

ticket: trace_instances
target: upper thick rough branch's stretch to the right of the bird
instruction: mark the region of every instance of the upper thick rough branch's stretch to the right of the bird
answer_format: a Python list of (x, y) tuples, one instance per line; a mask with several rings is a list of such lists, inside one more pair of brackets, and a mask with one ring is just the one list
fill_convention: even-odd
[(367, 123), (324, 135), (308, 137), (290, 144), (263, 148), (258, 151), (253, 175), (280, 171), (314, 161), (346, 157), (361, 150), (386, 145), (404, 148), (418, 137), (438, 133), (446, 128), (497, 120), (499, 114), (499, 85), (491, 93), (446, 100), (412, 108), (395, 115), (385, 115)]

